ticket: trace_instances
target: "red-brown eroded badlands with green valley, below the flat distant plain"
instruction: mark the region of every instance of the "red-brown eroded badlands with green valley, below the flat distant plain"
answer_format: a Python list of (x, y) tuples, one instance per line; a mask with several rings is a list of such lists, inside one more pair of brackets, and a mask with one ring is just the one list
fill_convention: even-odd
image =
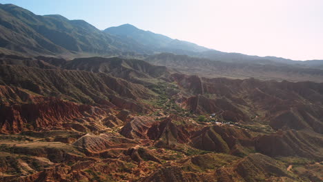
[(322, 83), (16, 59), (0, 62), (0, 181), (322, 181)]

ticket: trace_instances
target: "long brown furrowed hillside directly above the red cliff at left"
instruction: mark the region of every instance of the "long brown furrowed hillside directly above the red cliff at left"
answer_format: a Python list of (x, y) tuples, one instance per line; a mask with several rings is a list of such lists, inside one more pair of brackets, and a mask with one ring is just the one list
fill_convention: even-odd
[(43, 70), (19, 65), (0, 65), (0, 84), (17, 86), (43, 96), (100, 105), (109, 105), (109, 100), (114, 99), (111, 95), (131, 100), (152, 97), (143, 85), (104, 73)]

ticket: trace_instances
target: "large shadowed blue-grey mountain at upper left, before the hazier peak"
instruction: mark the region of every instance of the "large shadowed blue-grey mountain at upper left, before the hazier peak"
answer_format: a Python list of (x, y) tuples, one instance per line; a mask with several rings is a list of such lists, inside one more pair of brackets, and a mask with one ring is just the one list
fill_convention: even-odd
[(118, 54), (141, 52), (141, 45), (101, 32), (83, 20), (39, 16), (12, 4), (0, 5), (1, 48), (26, 54)]

